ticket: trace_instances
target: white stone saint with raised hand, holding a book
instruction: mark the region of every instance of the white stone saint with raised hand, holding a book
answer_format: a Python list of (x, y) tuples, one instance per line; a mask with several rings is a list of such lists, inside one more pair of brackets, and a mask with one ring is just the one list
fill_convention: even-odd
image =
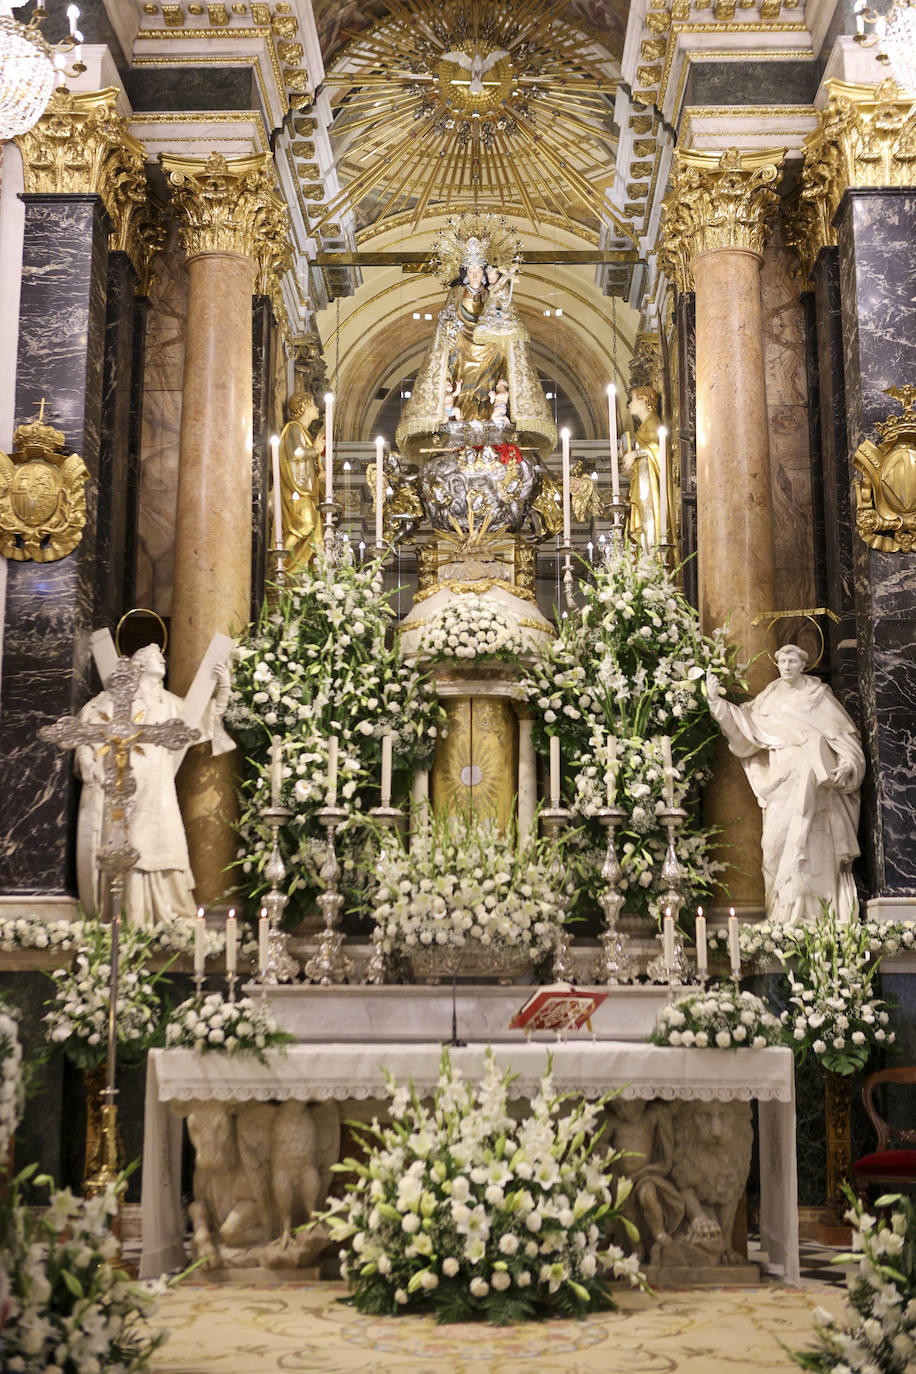
[(834, 904), (857, 910), (851, 864), (858, 856), (858, 789), (865, 757), (858, 731), (827, 683), (805, 676), (808, 654), (784, 644), (779, 680), (744, 706), (706, 677), (713, 717), (744, 765), (764, 812), (766, 914), (795, 925)]

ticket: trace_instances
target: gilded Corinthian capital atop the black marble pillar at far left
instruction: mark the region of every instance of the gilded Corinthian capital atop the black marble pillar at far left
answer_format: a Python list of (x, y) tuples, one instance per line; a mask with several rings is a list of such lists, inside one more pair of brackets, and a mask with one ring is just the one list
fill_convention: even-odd
[(108, 247), (128, 253), (147, 278), (161, 235), (152, 225), (146, 151), (118, 114), (117, 89), (71, 95), (59, 87), (34, 128), (15, 142), (26, 192), (100, 196), (113, 224)]

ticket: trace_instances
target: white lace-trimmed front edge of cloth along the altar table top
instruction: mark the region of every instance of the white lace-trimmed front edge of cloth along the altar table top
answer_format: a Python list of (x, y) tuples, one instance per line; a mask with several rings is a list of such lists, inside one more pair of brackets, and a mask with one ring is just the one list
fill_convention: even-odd
[[(439, 1044), (298, 1044), (283, 1054), (271, 1051), (266, 1062), (222, 1054), (199, 1055), (192, 1050), (154, 1050), (150, 1066), (161, 1102), (305, 1102), (385, 1098), (385, 1073), (398, 1083), (409, 1079), (419, 1091), (435, 1087)], [(623, 1041), (586, 1041), (553, 1046), (496, 1046), (497, 1063), (518, 1077), (514, 1098), (530, 1096), (553, 1062), (553, 1084), (574, 1088), (588, 1098), (622, 1088), (625, 1098), (661, 1098), (672, 1102), (791, 1102), (794, 1069), (791, 1050), (673, 1050)], [(483, 1046), (450, 1051), (452, 1062), (466, 1077), (483, 1072)]]

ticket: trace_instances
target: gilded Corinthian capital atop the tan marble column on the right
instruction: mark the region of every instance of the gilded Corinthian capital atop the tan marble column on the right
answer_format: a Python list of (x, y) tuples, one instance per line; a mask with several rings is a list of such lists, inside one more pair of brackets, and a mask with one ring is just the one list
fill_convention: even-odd
[(678, 290), (692, 290), (691, 261), (699, 253), (747, 249), (762, 254), (766, 221), (779, 205), (773, 184), (783, 157), (783, 148), (674, 154), (672, 188), (662, 203), (659, 265)]

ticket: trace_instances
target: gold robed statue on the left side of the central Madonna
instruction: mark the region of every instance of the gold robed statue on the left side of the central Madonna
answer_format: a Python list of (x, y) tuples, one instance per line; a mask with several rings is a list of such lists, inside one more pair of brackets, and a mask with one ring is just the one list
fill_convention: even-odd
[(316, 426), (319, 408), (308, 392), (294, 392), (287, 412), (290, 418), (280, 434), (280, 500), (286, 572), (297, 573), (308, 567), (323, 547), (319, 500), (324, 480), (324, 430)]

